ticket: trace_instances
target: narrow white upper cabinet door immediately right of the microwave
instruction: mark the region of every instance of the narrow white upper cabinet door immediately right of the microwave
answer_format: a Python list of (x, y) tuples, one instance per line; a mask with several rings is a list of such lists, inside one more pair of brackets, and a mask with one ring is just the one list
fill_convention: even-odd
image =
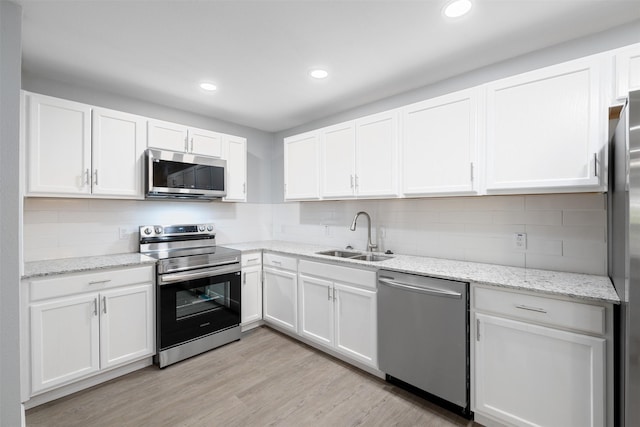
[(247, 201), (247, 140), (224, 136), (224, 158), (227, 161), (227, 202)]

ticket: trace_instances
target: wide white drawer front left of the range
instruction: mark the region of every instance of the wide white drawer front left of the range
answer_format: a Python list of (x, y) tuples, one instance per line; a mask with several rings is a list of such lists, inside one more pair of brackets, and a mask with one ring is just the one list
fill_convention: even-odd
[(96, 273), (64, 274), (29, 282), (30, 299), (38, 301), (81, 292), (99, 291), (136, 283), (153, 283), (154, 267), (104, 270)]

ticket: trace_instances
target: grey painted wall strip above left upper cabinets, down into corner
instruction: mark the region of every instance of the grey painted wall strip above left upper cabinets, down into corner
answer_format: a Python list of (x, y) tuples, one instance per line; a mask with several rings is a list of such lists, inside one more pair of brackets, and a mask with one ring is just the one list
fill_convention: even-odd
[(23, 73), (22, 88), (98, 107), (245, 137), (247, 138), (247, 200), (252, 203), (271, 202), (273, 134), (188, 111), (101, 92), (94, 88), (70, 85), (32, 73)]

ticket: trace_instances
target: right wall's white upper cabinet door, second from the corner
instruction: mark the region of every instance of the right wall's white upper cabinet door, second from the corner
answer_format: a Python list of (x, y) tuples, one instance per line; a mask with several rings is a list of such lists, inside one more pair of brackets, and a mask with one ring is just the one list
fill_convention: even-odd
[(355, 195), (356, 128), (354, 122), (322, 130), (322, 197)]

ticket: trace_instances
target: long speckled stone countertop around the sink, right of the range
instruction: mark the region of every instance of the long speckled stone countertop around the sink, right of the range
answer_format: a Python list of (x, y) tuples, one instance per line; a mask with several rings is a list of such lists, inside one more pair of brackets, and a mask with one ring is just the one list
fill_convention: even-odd
[(303, 256), (322, 261), (349, 264), (354, 267), (374, 267), (404, 273), (424, 274), (443, 279), (475, 282), (502, 288), (560, 295), (587, 301), (619, 304), (620, 298), (606, 276), (564, 273), (560, 271), (509, 267), (478, 262), (454, 261), (440, 258), (393, 254), (385, 261), (370, 262), (318, 255), (316, 252), (335, 247), (305, 243), (258, 241), (223, 245), (243, 252), (267, 250), (285, 255)]

